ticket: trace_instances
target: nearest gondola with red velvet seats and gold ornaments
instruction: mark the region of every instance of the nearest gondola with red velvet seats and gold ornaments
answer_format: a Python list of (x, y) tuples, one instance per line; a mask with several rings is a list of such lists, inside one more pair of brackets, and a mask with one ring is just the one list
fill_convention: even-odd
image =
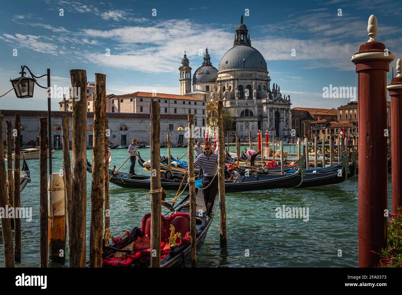
[[(207, 220), (205, 216), (205, 203), (203, 193), (197, 190), (196, 211), (198, 214), (195, 220), (197, 229), (197, 256), (201, 252), (205, 237), (212, 218)], [(213, 205), (212, 212), (215, 212), (216, 204)], [(188, 267), (191, 266), (191, 244), (190, 232), (190, 206), (189, 195), (174, 208), (174, 214), (169, 212), (161, 216), (161, 260), (160, 267)], [(201, 215), (201, 216), (200, 216)], [(141, 222), (141, 228), (135, 227), (123, 240), (117, 240), (116, 244), (103, 248), (103, 267), (149, 267), (150, 266), (150, 213), (146, 214)], [(168, 237), (171, 233), (170, 225), (174, 226), (174, 234), (180, 232), (183, 239), (176, 238), (174, 250), (168, 244)], [(127, 250), (128, 249), (128, 250)], [(134, 250), (135, 249), (135, 250)], [(162, 250), (163, 249), (163, 250)]]

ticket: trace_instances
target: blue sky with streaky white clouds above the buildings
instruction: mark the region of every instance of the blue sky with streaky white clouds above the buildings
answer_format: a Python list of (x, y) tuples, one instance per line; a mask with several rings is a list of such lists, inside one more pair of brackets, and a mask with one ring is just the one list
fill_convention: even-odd
[[(60, 8), (64, 16), (59, 16)], [(281, 93), (291, 96), (292, 107), (336, 108), (349, 101), (324, 99), (322, 88), (357, 86), (350, 57), (368, 40), (371, 14), (378, 19), (376, 39), (396, 59), (402, 56), (402, 6), (396, 1), (2, 1), (0, 95), (10, 90), (9, 79), (19, 76), (20, 65), (35, 75), (49, 67), (51, 84), (61, 87), (71, 86), (70, 69), (85, 69), (89, 81), (94, 73), (107, 75), (108, 94), (153, 89), (179, 94), (183, 52), (193, 72), (205, 47), (218, 67), (233, 46), (245, 9), (252, 46), (267, 61), (271, 85), (278, 83)], [(46, 79), (38, 81), (46, 85)], [(58, 110), (57, 102), (52, 100), (53, 110)], [(35, 87), (34, 98), (24, 100), (10, 92), (0, 98), (0, 109), (46, 110), (46, 91)]]

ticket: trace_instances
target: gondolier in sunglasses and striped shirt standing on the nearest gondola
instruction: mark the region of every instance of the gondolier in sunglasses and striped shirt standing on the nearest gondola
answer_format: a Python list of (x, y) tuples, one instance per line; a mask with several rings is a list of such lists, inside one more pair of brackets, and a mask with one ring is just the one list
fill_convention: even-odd
[[(212, 209), (218, 193), (218, 154), (212, 151), (211, 142), (204, 142), (204, 153), (194, 161), (194, 167), (201, 166), (203, 170), (202, 187), (207, 220), (213, 216)], [(187, 174), (187, 171), (185, 171)]]

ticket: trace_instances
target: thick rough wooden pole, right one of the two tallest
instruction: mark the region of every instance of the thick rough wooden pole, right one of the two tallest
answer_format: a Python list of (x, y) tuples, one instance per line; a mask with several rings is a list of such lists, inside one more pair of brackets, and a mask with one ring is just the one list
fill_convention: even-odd
[(106, 75), (95, 73), (89, 266), (102, 266), (103, 187), (105, 171)]

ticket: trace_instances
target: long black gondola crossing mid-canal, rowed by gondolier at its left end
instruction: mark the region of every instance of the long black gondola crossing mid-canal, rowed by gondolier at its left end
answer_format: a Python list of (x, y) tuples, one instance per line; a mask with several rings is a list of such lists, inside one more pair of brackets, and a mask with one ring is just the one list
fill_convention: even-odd
[[(303, 158), (300, 158), (303, 159)], [(303, 160), (304, 161), (304, 160)], [(92, 171), (90, 163), (87, 163), (87, 170)], [(225, 180), (225, 190), (230, 192), (240, 191), (258, 191), (265, 189), (280, 189), (291, 188), (301, 184), (303, 181), (302, 169), (292, 173), (286, 173), (284, 175), (272, 174), (272, 175), (240, 175), (235, 180)], [(131, 189), (150, 189), (151, 179), (149, 176), (132, 175), (127, 173), (113, 173), (109, 170), (110, 182), (115, 183), (124, 188)], [(161, 172), (160, 183), (165, 189), (171, 189), (177, 191), (180, 187), (181, 176), (170, 173), (170, 171)], [(201, 185), (201, 184), (198, 184)], [(196, 183), (197, 186), (197, 183)]]

